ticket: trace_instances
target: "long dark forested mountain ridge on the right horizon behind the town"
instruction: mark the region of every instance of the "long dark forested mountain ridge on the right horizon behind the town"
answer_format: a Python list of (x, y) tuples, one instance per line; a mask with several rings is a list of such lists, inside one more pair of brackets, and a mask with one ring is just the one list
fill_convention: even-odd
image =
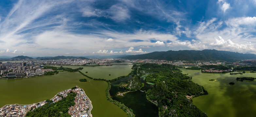
[(218, 50), (179, 50), (151, 52), (142, 55), (131, 55), (122, 59), (158, 59), (158, 60), (223, 60), (238, 61), (242, 59), (256, 59), (255, 54), (242, 54), (238, 52)]

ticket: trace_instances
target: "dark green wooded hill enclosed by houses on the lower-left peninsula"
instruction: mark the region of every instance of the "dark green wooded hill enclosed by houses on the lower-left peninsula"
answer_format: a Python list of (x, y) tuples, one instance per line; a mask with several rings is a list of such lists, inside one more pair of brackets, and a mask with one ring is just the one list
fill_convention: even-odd
[(27, 112), (26, 117), (71, 117), (68, 110), (69, 107), (75, 105), (74, 99), (76, 96), (76, 93), (71, 92), (67, 97), (56, 103), (47, 103), (40, 108)]

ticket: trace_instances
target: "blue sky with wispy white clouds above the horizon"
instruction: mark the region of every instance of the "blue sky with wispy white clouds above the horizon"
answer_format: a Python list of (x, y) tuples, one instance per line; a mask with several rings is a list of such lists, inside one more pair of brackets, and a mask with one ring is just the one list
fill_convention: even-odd
[(256, 0), (1, 0), (0, 56), (256, 54)]

